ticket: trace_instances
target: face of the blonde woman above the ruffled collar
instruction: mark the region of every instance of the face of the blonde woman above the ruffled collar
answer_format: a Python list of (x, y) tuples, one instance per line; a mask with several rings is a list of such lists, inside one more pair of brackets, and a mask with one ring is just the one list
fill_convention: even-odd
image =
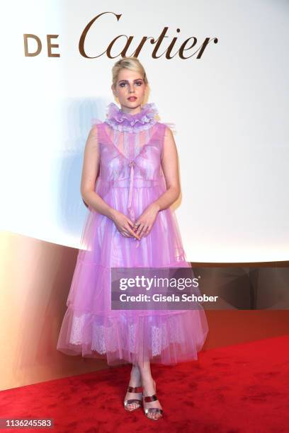
[(139, 72), (120, 69), (116, 86), (113, 88), (112, 85), (111, 88), (123, 111), (132, 113), (141, 111), (147, 84)]

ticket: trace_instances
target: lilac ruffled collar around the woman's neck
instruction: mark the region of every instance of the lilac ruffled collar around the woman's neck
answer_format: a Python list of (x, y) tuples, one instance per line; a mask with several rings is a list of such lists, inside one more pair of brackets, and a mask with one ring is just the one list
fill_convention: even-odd
[(115, 103), (110, 103), (107, 108), (104, 122), (108, 123), (113, 129), (118, 129), (118, 131), (137, 132), (148, 129), (157, 122), (155, 117), (158, 110), (154, 103), (143, 105), (142, 110), (136, 114), (124, 112)]

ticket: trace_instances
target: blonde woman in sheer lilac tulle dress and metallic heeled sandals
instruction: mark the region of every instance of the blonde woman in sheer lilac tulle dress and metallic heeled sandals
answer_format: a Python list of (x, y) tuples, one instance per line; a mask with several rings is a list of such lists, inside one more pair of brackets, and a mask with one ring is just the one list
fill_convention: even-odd
[(111, 267), (191, 267), (170, 206), (180, 194), (171, 129), (145, 103), (148, 81), (136, 57), (113, 66), (113, 95), (104, 122), (91, 127), (84, 151), (81, 196), (89, 207), (57, 349), (131, 363), (125, 409), (143, 405), (163, 416), (151, 362), (197, 359), (208, 333), (203, 308), (112, 310)]

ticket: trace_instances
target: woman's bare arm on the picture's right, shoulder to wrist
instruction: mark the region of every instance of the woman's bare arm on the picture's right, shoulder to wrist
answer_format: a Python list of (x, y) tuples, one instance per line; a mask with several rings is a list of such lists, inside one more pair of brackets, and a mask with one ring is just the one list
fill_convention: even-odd
[(162, 194), (154, 204), (159, 210), (166, 209), (173, 204), (181, 193), (178, 151), (174, 141), (174, 135), (169, 127), (166, 127), (164, 134), (164, 151), (162, 156), (162, 169), (166, 180), (166, 192)]

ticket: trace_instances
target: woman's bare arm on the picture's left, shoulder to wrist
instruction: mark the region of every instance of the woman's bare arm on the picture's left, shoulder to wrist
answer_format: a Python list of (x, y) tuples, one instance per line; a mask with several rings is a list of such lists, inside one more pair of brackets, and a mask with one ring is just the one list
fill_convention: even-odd
[(113, 219), (115, 209), (109, 206), (95, 191), (96, 176), (100, 163), (97, 125), (91, 127), (84, 149), (84, 162), (81, 175), (81, 197), (86, 205), (100, 214)]

